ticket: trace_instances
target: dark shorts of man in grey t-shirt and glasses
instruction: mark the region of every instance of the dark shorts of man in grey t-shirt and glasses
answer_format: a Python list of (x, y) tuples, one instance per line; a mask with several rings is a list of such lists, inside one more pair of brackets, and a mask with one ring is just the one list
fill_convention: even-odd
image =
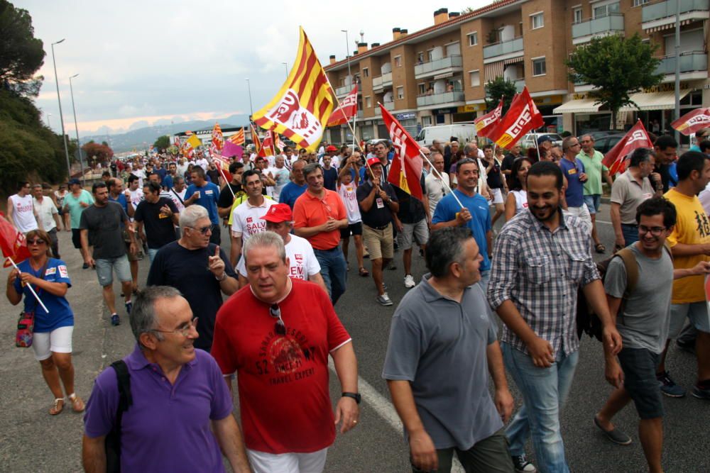
[(656, 379), (660, 355), (645, 348), (622, 348), (618, 354), (623, 386), (642, 419), (663, 417), (661, 390)]

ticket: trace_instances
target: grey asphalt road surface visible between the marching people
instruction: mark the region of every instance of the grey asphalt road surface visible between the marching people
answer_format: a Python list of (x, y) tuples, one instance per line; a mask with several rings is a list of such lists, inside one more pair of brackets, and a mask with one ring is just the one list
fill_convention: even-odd
[[(602, 206), (599, 220), (601, 240), (611, 248), (613, 232), (608, 224), (607, 205)], [(226, 231), (223, 239), (226, 239)], [(60, 250), (73, 284), (68, 299), (76, 314), (74, 362), (77, 392), (86, 400), (94, 377), (110, 362), (131, 351), (133, 337), (126, 317), (122, 325), (111, 327), (96, 274), (91, 269), (81, 269), (82, 261), (79, 252), (71, 247), (70, 233), (61, 233)], [(424, 262), (417, 255), (413, 260), (413, 272), (418, 282), (425, 272)], [(353, 269), (349, 272), (349, 289), (338, 302), (337, 312), (354, 340), (364, 401), (358, 427), (346, 435), (339, 435), (329, 450), (327, 472), (411, 471), (407, 445), (389, 402), (386, 383), (381, 379), (390, 319), (396, 304), (407, 291), (403, 286), (401, 252), (395, 255), (395, 262), (398, 269), (385, 274), (395, 306), (386, 308), (376, 303), (371, 279), (357, 275), (354, 249), (351, 248)], [(369, 266), (367, 260), (366, 266)], [(141, 285), (147, 270), (146, 258), (141, 262)], [(118, 294), (118, 284), (115, 289)], [(48, 414), (53, 396), (43, 382), (38, 362), (31, 349), (14, 347), (16, 316), (20, 309), (11, 306), (5, 298), (1, 299), (0, 340), (4, 343), (0, 345), (0, 410), (3, 413), (0, 416), (0, 472), (80, 472), (82, 416), (73, 413), (69, 406), (59, 416)], [(121, 316), (124, 313), (121, 312)], [(692, 386), (696, 372), (693, 355), (673, 347), (667, 365), (679, 384), (687, 388)], [(516, 402), (519, 402), (515, 384), (510, 382), (510, 386)], [(572, 392), (562, 412), (562, 438), (573, 472), (646, 471), (633, 405), (616, 418), (617, 427), (633, 438), (629, 446), (610, 443), (592, 423), (594, 413), (610, 392), (611, 386), (603, 378), (601, 346), (596, 340), (585, 338)], [(331, 393), (334, 400), (339, 397), (339, 384), (334, 376)], [(288, 399), (284, 402), (288, 403)], [(710, 403), (687, 396), (683, 399), (664, 398), (664, 405), (665, 470), (710, 472)], [(235, 406), (238, 414), (237, 401)], [(294, 432), (294, 435), (298, 433)]]

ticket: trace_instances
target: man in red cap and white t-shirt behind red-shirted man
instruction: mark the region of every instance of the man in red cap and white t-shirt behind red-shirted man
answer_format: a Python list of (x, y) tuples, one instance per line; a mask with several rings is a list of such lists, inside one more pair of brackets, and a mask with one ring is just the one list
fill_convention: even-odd
[[(315, 282), (327, 292), (323, 277), (320, 275), (320, 264), (316, 260), (313, 247), (305, 238), (291, 233), (291, 230), (293, 230), (293, 213), (291, 213), (291, 208), (288, 204), (273, 204), (269, 207), (266, 215), (261, 217), (261, 220), (266, 221), (267, 231), (278, 233), (283, 238), (288, 260), (288, 276)], [(241, 258), (239, 264), (236, 265), (236, 272), (239, 273), (239, 285), (246, 286), (248, 283), (244, 258)]]

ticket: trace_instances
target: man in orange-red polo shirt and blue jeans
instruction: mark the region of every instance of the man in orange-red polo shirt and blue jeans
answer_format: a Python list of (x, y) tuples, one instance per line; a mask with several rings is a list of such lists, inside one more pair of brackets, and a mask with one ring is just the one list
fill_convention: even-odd
[(308, 240), (320, 263), (320, 273), (333, 305), (345, 292), (347, 264), (338, 247), (340, 229), (348, 226), (345, 204), (337, 192), (323, 187), (323, 168), (312, 162), (303, 168), (308, 188), (293, 205), (293, 231)]

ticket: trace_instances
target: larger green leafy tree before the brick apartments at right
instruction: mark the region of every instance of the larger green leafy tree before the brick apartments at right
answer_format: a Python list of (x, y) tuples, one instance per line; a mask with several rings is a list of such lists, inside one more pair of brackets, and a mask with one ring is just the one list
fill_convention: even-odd
[(622, 35), (592, 38), (566, 61), (569, 80), (593, 85), (589, 96), (596, 99), (595, 105), (611, 110), (611, 123), (616, 124), (619, 108), (638, 107), (631, 94), (661, 82), (663, 75), (655, 73), (660, 60), (653, 57), (657, 49), (655, 43), (643, 43), (638, 33), (631, 38)]

